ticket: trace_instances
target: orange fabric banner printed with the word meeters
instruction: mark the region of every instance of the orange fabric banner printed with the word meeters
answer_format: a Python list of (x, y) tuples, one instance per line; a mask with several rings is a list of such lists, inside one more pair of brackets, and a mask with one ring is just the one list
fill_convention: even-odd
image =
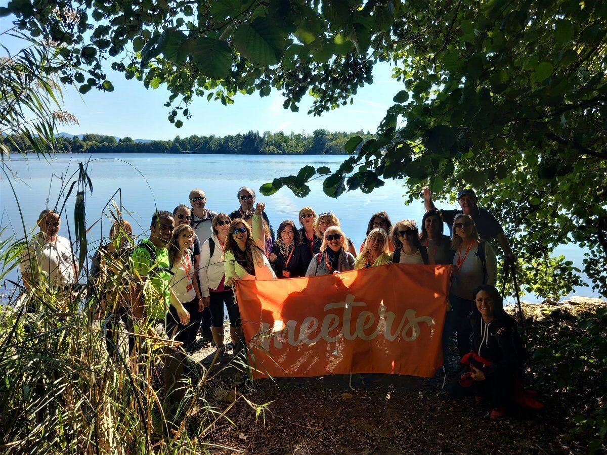
[(322, 277), (238, 281), (254, 377), (394, 373), (432, 377), (449, 266), (388, 264)]

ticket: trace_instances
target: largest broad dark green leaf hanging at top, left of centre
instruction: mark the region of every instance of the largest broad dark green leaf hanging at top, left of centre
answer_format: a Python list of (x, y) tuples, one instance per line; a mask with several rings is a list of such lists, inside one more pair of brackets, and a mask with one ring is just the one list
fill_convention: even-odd
[(287, 35), (270, 18), (259, 17), (240, 24), (233, 36), (234, 46), (247, 60), (262, 65), (276, 64), (287, 45)]

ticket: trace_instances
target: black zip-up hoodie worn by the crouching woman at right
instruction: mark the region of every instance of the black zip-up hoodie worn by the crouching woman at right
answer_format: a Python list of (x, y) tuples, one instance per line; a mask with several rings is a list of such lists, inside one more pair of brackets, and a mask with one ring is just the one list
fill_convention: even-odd
[(484, 368), (485, 376), (512, 374), (524, 362), (524, 347), (517, 331), (517, 322), (509, 315), (502, 315), (485, 324), (478, 311), (468, 318), (472, 324), (472, 350), (493, 365)]

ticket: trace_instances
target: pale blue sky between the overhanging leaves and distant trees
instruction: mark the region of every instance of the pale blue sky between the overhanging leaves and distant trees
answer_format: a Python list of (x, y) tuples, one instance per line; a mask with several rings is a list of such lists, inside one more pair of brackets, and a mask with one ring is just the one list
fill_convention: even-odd
[[(0, 1), (5, 5), (6, 1)], [(12, 17), (0, 18), (0, 33), (12, 27)], [(18, 52), (23, 41), (0, 36), (1, 44), (11, 53)], [(0, 50), (0, 55), (4, 50)], [(293, 113), (282, 107), (284, 101), (280, 92), (273, 90), (270, 96), (260, 98), (257, 93), (234, 98), (234, 104), (223, 106), (219, 101), (195, 99), (189, 108), (193, 114), (190, 120), (183, 120), (183, 127), (177, 129), (167, 120), (168, 108), (163, 104), (169, 93), (163, 86), (153, 90), (135, 79), (127, 81), (123, 73), (112, 72), (108, 68), (109, 79), (114, 84), (114, 92), (104, 93), (96, 89), (80, 95), (74, 87), (64, 90), (64, 110), (72, 113), (80, 121), (80, 126), (59, 126), (62, 132), (98, 133), (133, 139), (168, 140), (176, 135), (192, 134), (218, 135), (254, 131), (308, 132), (315, 129), (331, 131), (370, 130), (374, 132), (392, 106), (392, 98), (403, 89), (402, 83), (392, 79), (392, 68), (388, 64), (378, 64), (373, 72), (374, 83), (358, 90), (354, 104), (342, 106), (322, 116), (308, 115), (312, 105), (310, 96), (299, 104), (299, 112)]]

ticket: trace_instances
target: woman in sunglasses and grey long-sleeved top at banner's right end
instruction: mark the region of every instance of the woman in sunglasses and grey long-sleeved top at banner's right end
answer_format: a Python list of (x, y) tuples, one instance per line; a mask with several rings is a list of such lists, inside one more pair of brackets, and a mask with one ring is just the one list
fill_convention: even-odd
[(481, 240), (476, 224), (470, 215), (459, 214), (453, 220), (453, 275), (447, 312), (445, 339), (457, 334), (459, 358), (470, 352), (470, 322), (472, 296), (481, 285), (495, 286), (497, 281), (497, 260), (491, 245)]

